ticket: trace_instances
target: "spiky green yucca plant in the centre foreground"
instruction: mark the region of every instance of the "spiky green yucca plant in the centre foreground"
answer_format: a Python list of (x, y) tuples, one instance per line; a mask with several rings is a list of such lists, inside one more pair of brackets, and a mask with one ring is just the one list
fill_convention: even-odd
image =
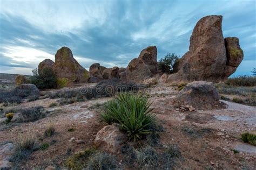
[(106, 102), (102, 118), (108, 124), (120, 124), (130, 140), (137, 140), (143, 134), (152, 132), (149, 126), (155, 123), (156, 115), (151, 113), (151, 104), (146, 97), (140, 95), (119, 94)]

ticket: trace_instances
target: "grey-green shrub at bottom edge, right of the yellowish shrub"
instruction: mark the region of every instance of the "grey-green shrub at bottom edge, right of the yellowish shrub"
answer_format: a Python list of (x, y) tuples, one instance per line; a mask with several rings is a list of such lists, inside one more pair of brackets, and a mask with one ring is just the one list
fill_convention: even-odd
[(118, 162), (113, 155), (107, 154), (105, 152), (96, 152), (91, 155), (87, 161), (85, 169), (117, 169)]

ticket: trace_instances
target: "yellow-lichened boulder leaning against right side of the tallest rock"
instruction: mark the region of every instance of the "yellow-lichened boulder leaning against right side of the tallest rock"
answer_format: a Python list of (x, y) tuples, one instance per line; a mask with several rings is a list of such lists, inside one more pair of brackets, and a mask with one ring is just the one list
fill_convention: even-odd
[(228, 76), (233, 74), (237, 67), (244, 59), (244, 52), (240, 48), (239, 39), (237, 37), (227, 37), (224, 39), (226, 47), (227, 62), (224, 69), (223, 78), (227, 79)]

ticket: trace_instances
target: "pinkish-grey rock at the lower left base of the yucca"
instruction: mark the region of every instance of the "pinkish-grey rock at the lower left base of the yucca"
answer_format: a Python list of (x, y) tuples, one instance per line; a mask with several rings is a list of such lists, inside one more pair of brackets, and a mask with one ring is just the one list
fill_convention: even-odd
[(107, 125), (96, 134), (94, 143), (99, 149), (116, 153), (126, 139), (127, 136), (116, 125)]

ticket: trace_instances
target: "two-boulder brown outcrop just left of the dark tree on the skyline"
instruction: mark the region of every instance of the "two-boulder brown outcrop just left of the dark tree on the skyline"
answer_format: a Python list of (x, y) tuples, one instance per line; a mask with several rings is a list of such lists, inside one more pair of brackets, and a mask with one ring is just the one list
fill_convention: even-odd
[(138, 58), (129, 62), (125, 72), (119, 73), (120, 80), (143, 83), (157, 71), (157, 47), (149, 46), (140, 52)]

